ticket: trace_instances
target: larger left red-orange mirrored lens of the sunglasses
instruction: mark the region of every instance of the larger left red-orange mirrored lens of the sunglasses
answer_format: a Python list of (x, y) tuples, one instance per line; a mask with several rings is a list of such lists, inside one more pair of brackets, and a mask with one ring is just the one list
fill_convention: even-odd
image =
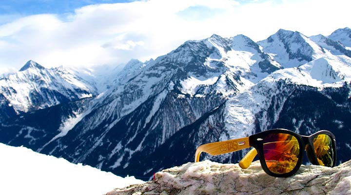
[(291, 172), (300, 153), (296, 137), (290, 134), (270, 134), (263, 139), (263, 155), (268, 169), (274, 174)]

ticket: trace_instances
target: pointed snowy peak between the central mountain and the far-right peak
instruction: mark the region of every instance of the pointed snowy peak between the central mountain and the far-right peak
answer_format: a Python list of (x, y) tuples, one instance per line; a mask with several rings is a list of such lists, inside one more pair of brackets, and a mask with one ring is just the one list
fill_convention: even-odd
[(268, 39), (257, 43), (284, 68), (297, 67), (325, 57), (325, 51), (320, 45), (297, 31), (280, 29)]

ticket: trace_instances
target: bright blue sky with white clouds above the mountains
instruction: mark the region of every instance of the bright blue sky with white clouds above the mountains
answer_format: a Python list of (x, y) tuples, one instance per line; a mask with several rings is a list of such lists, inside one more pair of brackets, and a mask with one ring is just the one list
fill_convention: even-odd
[(0, 0), (0, 75), (156, 59), (186, 40), (351, 27), (350, 0)]

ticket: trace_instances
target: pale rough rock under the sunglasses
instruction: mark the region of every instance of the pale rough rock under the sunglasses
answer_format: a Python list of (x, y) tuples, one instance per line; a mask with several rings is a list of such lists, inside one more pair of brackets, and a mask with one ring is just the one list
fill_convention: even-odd
[(351, 195), (351, 160), (330, 168), (301, 165), (286, 178), (267, 175), (259, 161), (248, 169), (205, 160), (157, 172), (155, 180), (106, 195)]

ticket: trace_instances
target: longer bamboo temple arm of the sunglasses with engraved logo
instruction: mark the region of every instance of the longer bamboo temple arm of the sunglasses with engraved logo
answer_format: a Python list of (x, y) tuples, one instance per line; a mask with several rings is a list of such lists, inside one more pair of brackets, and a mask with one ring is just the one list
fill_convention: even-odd
[(196, 149), (195, 162), (198, 162), (200, 160), (200, 154), (202, 152), (216, 156), (242, 150), (249, 147), (249, 137), (203, 144)]

